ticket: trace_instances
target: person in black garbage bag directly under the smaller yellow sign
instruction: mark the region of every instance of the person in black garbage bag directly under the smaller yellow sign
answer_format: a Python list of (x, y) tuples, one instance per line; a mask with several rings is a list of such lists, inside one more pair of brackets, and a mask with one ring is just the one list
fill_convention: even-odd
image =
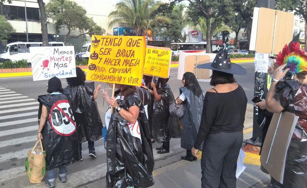
[(171, 139), (171, 129), (179, 127), (179, 119), (170, 116), (169, 103), (174, 102), (175, 98), (167, 81), (169, 78), (159, 78), (157, 85), (151, 82), (153, 88), (153, 138), (158, 143), (163, 143), (156, 148), (158, 154), (169, 153), (169, 140)]

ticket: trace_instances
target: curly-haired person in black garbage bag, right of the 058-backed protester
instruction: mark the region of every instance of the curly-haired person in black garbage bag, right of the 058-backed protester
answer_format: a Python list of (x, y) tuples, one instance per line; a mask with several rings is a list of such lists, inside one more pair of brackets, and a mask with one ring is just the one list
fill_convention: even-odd
[(65, 93), (70, 98), (79, 136), (80, 156), (82, 160), (82, 143), (88, 142), (90, 157), (97, 157), (94, 141), (102, 137), (102, 122), (95, 102), (101, 84), (95, 90), (94, 82), (86, 83), (86, 76), (81, 68), (76, 67), (77, 77), (66, 78), (68, 86)]

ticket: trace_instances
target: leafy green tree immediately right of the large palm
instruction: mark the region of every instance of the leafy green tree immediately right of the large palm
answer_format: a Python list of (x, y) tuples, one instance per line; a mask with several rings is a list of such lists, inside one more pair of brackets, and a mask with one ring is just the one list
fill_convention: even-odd
[(183, 4), (174, 6), (173, 10), (164, 13), (170, 20), (170, 22), (160, 22), (153, 27), (153, 34), (155, 37), (159, 37), (163, 41), (185, 42), (186, 34), (182, 35), (181, 31), (185, 26), (185, 20), (183, 18), (183, 10), (185, 6)]

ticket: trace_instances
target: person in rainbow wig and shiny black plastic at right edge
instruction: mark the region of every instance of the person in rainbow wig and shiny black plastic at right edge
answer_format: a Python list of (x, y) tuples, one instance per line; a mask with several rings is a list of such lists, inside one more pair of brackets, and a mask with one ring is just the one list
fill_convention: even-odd
[(289, 47), (287, 45), (284, 47), (276, 62), (281, 66), (273, 71), (266, 108), (269, 112), (286, 111), (299, 117), (287, 150), (282, 187), (305, 188), (307, 185), (307, 54), (300, 50), (298, 42), (294, 42), (289, 44)]

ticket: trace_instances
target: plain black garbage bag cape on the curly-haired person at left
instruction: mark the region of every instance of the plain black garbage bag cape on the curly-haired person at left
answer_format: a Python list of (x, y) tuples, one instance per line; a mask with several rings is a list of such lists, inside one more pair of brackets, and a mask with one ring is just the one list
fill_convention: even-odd
[(102, 137), (102, 121), (94, 100), (94, 82), (81, 84), (79, 86), (68, 85), (64, 89), (69, 97), (76, 124), (78, 128), (79, 141), (96, 141)]

